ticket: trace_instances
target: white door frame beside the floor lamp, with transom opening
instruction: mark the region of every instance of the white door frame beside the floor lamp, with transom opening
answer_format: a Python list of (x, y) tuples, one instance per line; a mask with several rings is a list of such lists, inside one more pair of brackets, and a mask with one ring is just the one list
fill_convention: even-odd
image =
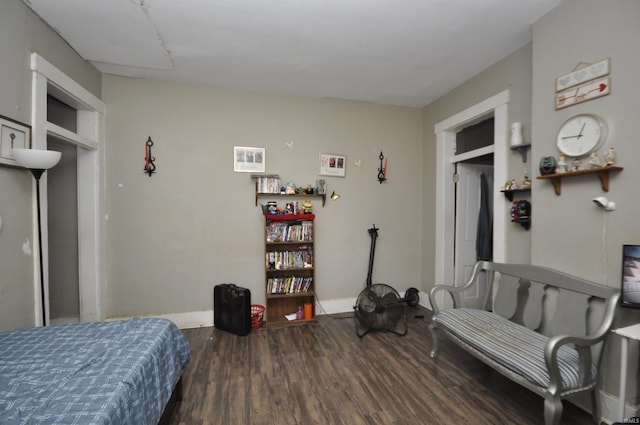
[[(78, 268), (80, 282), (80, 321), (104, 319), (104, 240), (103, 172), (105, 105), (37, 53), (31, 54), (31, 137), (34, 149), (47, 148), (47, 136), (73, 143), (78, 149)], [(47, 94), (75, 108), (77, 132), (47, 121)], [(43, 287), (46, 314), (49, 315), (49, 244), (46, 173), (41, 182)], [(34, 213), (34, 217), (36, 217)], [(34, 221), (35, 223), (35, 221)], [(34, 225), (36, 229), (37, 225)], [(37, 230), (35, 230), (37, 232)], [(34, 238), (35, 240), (35, 238)], [(35, 305), (41, 306), (39, 275), (34, 277)], [(35, 322), (43, 323), (42, 309), (35, 309)]]

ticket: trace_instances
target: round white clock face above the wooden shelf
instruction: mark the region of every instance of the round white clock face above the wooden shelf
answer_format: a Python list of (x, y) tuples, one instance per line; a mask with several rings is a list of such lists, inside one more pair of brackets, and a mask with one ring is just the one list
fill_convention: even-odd
[(592, 114), (576, 115), (558, 130), (556, 143), (567, 156), (581, 157), (597, 150), (606, 136), (605, 122)]

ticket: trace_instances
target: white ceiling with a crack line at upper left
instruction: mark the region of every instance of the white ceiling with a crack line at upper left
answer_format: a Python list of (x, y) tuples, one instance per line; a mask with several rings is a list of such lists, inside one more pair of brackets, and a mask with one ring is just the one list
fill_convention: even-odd
[(24, 0), (107, 74), (424, 106), (562, 0)]

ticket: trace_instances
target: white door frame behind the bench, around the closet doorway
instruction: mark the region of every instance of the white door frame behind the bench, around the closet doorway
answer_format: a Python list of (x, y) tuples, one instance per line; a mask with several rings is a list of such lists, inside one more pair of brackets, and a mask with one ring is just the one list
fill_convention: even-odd
[[(509, 131), (509, 90), (504, 90), (434, 126), (436, 134), (436, 259), (435, 284), (453, 284), (453, 235), (455, 230), (455, 188), (454, 164), (456, 162), (493, 152), (494, 182), (506, 181), (507, 147)], [(494, 143), (472, 152), (452, 155), (454, 152), (456, 133), (469, 125), (493, 116)], [(493, 190), (494, 217), (504, 210), (498, 205), (500, 197), (496, 184)], [(493, 259), (496, 262), (505, 260), (505, 221), (493, 221)], [(441, 294), (441, 292), (440, 292)], [(443, 300), (440, 300), (443, 301)]]

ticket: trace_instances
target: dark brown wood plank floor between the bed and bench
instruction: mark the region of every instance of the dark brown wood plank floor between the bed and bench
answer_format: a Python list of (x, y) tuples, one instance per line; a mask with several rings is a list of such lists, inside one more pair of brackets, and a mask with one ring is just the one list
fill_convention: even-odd
[[(413, 425), (544, 423), (543, 399), (441, 339), (431, 312), (408, 308), (409, 332), (358, 338), (352, 315), (241, 337), (184, 330), (192, 359), (170, 424)], [(415, 316), (423, 315), (423, 318)], [(592, 423), (564, 404), (562, 424)]]

